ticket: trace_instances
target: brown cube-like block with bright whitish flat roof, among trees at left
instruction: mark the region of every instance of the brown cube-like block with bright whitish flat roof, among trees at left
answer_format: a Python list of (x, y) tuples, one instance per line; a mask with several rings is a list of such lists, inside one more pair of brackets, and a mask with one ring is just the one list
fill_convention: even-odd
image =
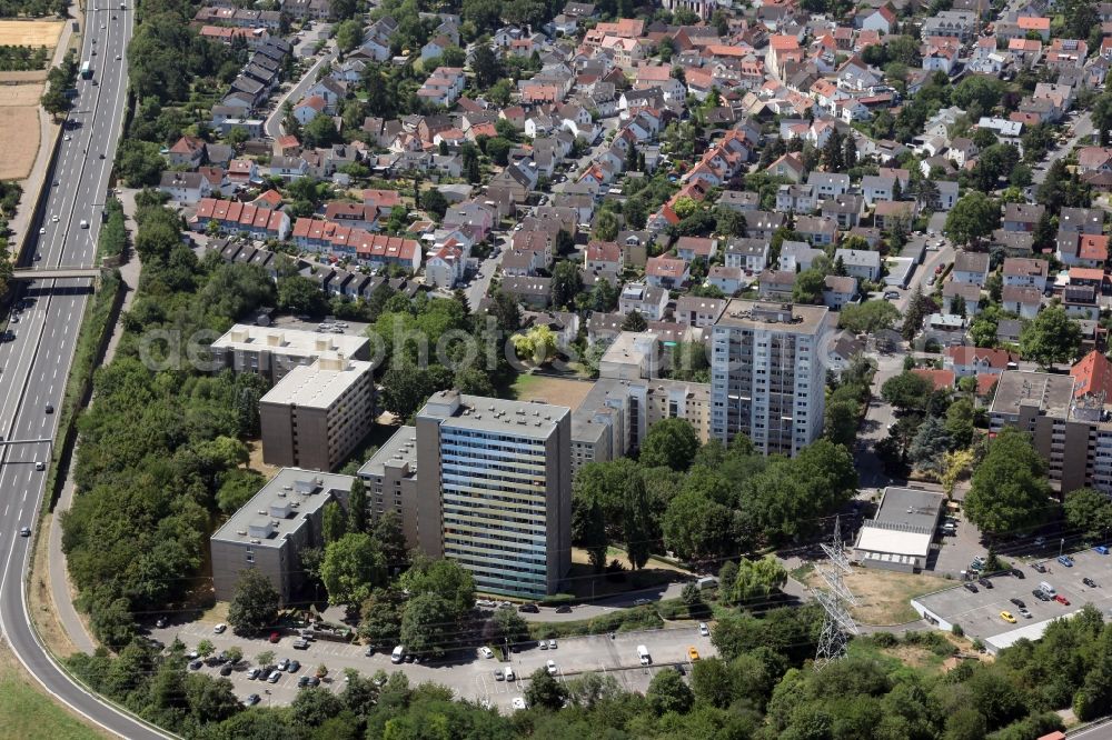
[(259, 400), (267, 464), (332, 470), (374, 423), (374, 366), (342, 356), (292, 368)]

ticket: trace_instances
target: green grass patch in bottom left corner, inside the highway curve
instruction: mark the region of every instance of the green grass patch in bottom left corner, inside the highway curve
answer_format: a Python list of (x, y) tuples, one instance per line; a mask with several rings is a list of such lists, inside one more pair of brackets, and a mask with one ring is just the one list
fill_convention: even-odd
[(111, 737), (85, 724), (42, 693), (7, 647), (0, 647), (0, 736), (93, 740)]

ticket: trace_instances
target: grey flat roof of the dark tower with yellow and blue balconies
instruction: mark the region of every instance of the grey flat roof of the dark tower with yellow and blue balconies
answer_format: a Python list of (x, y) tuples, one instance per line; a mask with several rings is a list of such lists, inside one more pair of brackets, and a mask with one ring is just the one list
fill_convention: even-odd
[(548, 439), (560, 420), (570, 413), (566, 406), (508, 401), (447, 390), (433, 393), (418, 416), (439, 418), (441, 427)]

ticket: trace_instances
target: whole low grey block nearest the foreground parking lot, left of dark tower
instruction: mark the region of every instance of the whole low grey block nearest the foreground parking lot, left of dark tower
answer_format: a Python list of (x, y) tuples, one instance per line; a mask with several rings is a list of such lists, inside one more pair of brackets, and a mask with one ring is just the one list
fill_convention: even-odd
[(255, 569), (274, 583), (282, 604), (306, 581), (301, 552), (322, 547), (326, 503), (347, 504), (355, 478), (284, 468), (209, 539), (216, 598), (230, 601), (240, 573)]

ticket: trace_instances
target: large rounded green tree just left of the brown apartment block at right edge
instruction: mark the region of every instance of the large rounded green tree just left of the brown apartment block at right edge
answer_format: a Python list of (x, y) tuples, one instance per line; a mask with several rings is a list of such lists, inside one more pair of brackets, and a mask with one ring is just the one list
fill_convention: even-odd
[(1046, 463), (1024, 432), (1001, 430), (965, 496), (965, 513), (986, 533), (1015, 533), (1048, 520)]

